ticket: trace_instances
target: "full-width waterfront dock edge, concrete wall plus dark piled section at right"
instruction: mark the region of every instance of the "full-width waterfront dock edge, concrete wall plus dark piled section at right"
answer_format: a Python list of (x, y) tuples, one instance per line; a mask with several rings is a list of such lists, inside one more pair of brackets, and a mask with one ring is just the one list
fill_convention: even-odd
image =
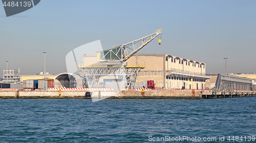
[(205, 91), (0, 91), (0, 98), (141, 98), (141, 99), (211, 99), (255, 96), (255, 92)]

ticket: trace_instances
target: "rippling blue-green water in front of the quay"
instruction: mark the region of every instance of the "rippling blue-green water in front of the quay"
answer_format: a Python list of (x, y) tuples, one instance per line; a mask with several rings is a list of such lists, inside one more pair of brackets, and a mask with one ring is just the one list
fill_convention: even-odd
[(227, 140), (256, 136), (255, 101), (0, 99), (0, 142), (157, 142), (165, 136), (217, 138), (166, 142), (223, 136), (222, 142), (256, 142)]

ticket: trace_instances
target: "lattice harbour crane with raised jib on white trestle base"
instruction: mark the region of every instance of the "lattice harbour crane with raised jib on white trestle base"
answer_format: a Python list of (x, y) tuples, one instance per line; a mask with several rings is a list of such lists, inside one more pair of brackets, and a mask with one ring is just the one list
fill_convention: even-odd
[[(97, 52), (97, 62), (100, 62), (100, 65), (78, 65), (87, 79), (87, 87), (96, 88), (101, 76), (114, 76), (115, 79), (125, 82), (126, 88), (133, 89), (137, 75), (145, 65), (127, 65), (126, 61), (160, 34), (162, 29), (138, 40)], [(161, 39), (158, 41), (160, 44)]]

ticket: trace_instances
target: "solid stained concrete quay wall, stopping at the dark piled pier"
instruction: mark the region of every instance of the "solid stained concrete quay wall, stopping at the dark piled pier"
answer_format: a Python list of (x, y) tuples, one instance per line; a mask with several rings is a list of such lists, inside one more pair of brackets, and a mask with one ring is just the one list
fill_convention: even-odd
[(195, 91), (0, 91), (0, 98), (200, 98)]

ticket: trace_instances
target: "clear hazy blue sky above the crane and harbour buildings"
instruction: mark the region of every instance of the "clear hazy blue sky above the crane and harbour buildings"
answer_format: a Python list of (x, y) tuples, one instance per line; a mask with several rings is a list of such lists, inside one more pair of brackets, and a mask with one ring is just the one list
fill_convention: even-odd
[(6, 17), (0, 6), (0, 78), (67, 72), (66, 55), (96, 40), (103, 49), (125, 44), (162, 28), (138, 53), (170, 54), (204, 62), (207, 74), (256, 73), (256, 1), (85, 1), (42, 0)]

